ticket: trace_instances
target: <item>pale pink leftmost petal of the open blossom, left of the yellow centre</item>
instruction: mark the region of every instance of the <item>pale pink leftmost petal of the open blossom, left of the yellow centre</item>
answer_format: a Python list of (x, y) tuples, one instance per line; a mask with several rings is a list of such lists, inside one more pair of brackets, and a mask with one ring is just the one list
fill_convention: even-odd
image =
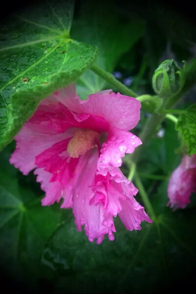
[(16, 139), (16, 150), (11, 155), (10, 163), (18, 167), (24, 175), (36, 167), (35, 157), (44, 150), (51, 147), (56, 142), (70, 136), (72, 132), (66, 134), (44, 134), (29, 128), (29, 123), (25, 124)]

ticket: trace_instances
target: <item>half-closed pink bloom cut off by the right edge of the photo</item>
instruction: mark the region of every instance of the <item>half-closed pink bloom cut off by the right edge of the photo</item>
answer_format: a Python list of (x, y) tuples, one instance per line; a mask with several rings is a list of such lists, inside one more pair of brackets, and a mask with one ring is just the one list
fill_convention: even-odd
[(169, 181), (168, 206), (174, 210), (185, 208), (193, 192), (196, 192), (196, 154), (191, 157), (185, 154)]

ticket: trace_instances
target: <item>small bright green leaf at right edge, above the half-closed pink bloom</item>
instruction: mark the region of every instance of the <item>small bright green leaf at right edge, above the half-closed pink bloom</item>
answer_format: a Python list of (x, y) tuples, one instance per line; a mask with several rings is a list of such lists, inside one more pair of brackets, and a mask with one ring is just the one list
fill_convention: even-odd
[(182, 135), (183, 144), (187, 146), (187, 153), (190, 156), (196, 154), (196, 104), (180, 114), (176, 130)]

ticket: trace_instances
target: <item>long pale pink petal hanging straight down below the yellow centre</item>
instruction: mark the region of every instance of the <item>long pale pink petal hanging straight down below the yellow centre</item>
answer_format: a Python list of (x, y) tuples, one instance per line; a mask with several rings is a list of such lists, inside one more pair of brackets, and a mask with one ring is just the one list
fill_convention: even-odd
[(93, 204), (90, 199), (94, 195), (92, 185), (97, 171), (98, 152), (91, 155), (87, 152), (80, 157), (78, 166), (81, 164), (85, 172), (78, 174), (78, 181), (73, 189), (73, 214), (77, 229), (81, 231), (81, 226), (84, 225), (86, 235), (89, 241), (97, 239), (100, 243), (105, 234), (108, 234), (110, 240), (114, 240), (113, 232), (115, 227), (112, 215), (107, 219), (107, 225), (103, 225), (104, 208), (101, 201)]

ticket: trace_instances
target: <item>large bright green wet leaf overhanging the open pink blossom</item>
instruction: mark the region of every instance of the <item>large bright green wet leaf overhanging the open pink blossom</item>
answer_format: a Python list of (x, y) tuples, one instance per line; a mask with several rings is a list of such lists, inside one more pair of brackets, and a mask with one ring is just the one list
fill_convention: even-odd
[(0, 149), (41, 99), (76, 80), (96, 58), (95, 46), (70, 39), (68, 6), (63, 1), (31, 7), (1, 27)]

